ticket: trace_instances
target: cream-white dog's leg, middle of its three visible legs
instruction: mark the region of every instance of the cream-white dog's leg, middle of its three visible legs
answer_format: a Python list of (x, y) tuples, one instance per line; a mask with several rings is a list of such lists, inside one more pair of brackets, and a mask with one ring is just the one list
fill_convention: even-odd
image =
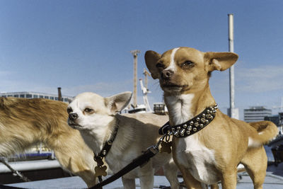
[(154, 188), (154, 168), (151, 165), (151, 161), (140, 168), (139, 183), (141, 189)]

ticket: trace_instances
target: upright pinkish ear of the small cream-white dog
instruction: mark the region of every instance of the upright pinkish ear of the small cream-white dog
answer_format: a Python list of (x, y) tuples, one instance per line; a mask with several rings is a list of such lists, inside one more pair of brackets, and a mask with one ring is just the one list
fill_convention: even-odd
[(105, 98), (105, 105), (111, 110), (112, 113), (117, 113), (123, 110), (131, 101), (132, 92), (119, 93), (115, 96)]

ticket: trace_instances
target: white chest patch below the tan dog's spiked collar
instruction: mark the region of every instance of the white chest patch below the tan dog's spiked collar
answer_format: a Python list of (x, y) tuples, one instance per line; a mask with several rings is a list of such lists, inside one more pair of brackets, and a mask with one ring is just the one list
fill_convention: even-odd
[(192, 176), (202, 183), (211, 184), (219, 181), (214, 151), (204, 147), (197, 139), (197, 135), (179, 138), (176, 142), (175, 158), (178, 164), (185, 166)]

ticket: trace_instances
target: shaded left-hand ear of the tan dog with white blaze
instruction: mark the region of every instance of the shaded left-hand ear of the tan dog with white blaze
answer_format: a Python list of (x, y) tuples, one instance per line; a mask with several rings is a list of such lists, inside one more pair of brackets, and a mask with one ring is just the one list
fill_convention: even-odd
[(153, 79), (158, 79), (158, 69), (156, 68), (156, 63), (160, 58), (161, 55), (152, 50), (146, 51), (146, 54), (144, 55), (144, 59), (146, 61), (146, 67), (151, 72), (151, 76)]

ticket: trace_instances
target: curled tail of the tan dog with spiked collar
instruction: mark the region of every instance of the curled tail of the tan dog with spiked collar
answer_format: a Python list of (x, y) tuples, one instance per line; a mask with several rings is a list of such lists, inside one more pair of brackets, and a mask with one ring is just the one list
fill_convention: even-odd
[(278, 134), (278, 128), (273, 122), (260, 121), (250, 122), (248, 124), (258, 131), (258, 136), (256, 137), (256, 140), (261, 144), (267, 144)]

